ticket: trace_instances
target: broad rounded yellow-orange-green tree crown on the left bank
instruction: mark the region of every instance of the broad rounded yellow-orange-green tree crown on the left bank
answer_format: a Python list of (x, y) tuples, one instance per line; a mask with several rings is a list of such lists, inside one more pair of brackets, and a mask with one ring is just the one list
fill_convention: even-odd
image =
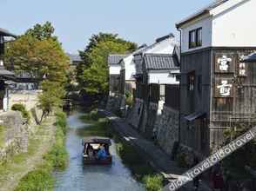
[(32, 77), (64, 82), (65, 70), (69, 67), (68, 57), (61, 44), (52, 38), (38, 40), (26, 34), (9, 43), (5, 65), (17, 74), (26, 72)]

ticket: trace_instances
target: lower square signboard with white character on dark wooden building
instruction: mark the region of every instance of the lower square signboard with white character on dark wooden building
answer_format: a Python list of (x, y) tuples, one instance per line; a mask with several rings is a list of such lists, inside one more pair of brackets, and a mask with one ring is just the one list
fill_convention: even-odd
[(215, 97), (232, 97), (233, 82), (231, 78), (215, 79)]

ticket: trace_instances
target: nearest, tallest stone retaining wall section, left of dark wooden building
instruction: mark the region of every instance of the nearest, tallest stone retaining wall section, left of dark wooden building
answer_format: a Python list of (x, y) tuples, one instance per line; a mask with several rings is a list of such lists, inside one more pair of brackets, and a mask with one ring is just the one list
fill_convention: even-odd
[(158, 144), (172, 155), (174, 142), (179, 141), (179, 111), (164, 106), (155, 123)]

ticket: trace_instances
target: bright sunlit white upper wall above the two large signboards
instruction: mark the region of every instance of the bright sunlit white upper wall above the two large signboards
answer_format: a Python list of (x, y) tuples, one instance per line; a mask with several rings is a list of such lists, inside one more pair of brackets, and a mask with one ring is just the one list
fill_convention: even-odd
[(212, 11), (212, 46), (255, 47), (255, 10), (255, 0), (232, 0)]

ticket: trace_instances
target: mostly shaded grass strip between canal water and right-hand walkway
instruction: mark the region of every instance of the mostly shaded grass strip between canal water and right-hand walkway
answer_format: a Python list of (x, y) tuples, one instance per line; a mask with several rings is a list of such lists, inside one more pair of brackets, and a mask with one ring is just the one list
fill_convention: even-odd
[(158, 175), (154, 168), (146, 162), (141, 154), (131, 143), (122, 140), (111, 127), (111, 122), (103, 115), (94, 110), (90, 114), (81, 116), (84, 122), (91, 123), (90, 127), (77, 129), (79, 135), (83, 136), (105, 136), (116, 142), (118, 155), (121, 157), (125, 166), (131, 169), (131, 174), (136, 180), (144, 183), (148, 191), (158, 191), (163, 187), (163, 177)]

